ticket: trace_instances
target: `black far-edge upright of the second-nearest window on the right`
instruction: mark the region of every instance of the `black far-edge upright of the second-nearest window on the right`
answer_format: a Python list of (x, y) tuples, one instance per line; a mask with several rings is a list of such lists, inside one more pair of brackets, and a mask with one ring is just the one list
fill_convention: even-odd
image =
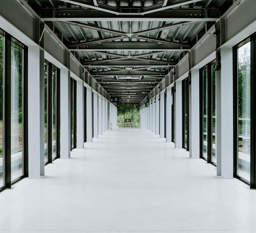
[(199, 70), (199, 140), (200, 158), (203, 158), (203, 69)]

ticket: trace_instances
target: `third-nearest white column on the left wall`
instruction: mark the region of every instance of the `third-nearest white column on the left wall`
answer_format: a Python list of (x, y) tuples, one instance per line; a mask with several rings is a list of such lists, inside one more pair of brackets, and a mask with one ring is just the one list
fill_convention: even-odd
[(76, 82), (76, 112), (77, 112), (77, 148), (84, 148), (85, 132), (84, 132), (84, 82), (77, 80)]

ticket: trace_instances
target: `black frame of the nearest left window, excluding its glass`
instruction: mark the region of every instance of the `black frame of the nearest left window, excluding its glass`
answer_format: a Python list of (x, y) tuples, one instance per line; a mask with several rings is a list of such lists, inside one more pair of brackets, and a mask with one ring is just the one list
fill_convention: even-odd
[[(0, 28), (1, 29), (1, 28)], [(11, 189), (12, 185), (28, 177), (28, 48), (19, 40), (1, 29), (3, 36), (3, 186)], [(23, 90), (22, 90), (22, 147), (23, 147), (23, 174), (15, 180), (11, 180), (11, 43), (15, 43), (23, 49)]]

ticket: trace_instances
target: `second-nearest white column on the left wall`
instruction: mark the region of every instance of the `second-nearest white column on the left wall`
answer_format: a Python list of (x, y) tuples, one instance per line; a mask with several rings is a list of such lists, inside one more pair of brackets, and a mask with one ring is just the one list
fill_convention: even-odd
[(60, 70), (60, 158), (70, 157), (70, 71)]

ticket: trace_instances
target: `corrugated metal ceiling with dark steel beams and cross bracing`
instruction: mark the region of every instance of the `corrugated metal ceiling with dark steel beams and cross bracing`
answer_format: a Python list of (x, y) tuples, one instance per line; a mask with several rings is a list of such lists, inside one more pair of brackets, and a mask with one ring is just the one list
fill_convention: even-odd
[[(225, 0), (51, 0), (40, 17), (110, 95), (140, 102), (220, 16)], [(62, 4), (62, 3), (63, 4)], [(65, 5), (64, 5), (65, 4)], [(51, 8), (52, 5), (52, 8)], [(127, 25), (127, 26), (126, 26)], [(144, 97), (144, 98), (143, 98)], [(132, 101), (132, 99), (131, 99)]]

